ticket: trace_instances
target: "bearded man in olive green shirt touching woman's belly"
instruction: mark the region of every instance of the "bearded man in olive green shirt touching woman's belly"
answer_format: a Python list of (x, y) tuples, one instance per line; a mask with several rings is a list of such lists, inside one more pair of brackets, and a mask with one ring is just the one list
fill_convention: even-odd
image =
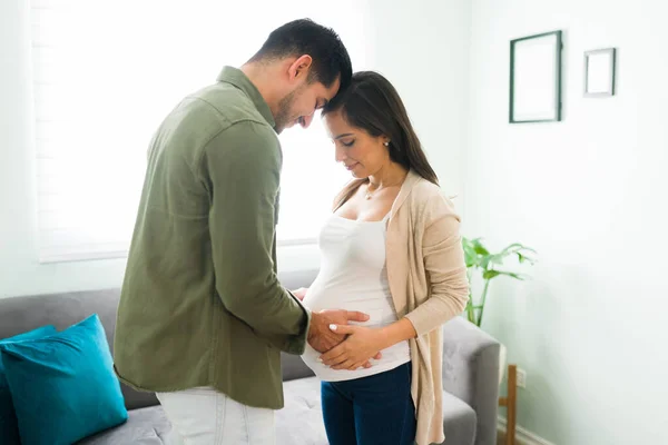
[(274, 30), (240, 70), (185, 98), (156, 132), (115, 338), (122, 382), (156, 392), (188, 444), (273, 444), (281, 350), (343, 340), (276, 277), (282, 151), (350, 82), (337, 34), (311, 20)]

